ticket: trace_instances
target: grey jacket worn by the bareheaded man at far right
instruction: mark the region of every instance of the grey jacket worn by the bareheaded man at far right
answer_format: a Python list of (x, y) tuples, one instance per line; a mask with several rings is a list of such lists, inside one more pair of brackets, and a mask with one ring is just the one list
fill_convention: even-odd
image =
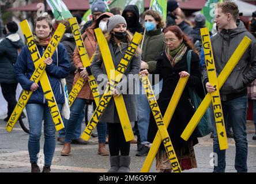
[[(222, 100), (225, 100), (226, 95), (233, 95), (246, 90), (246, 87), (256, 78), (256, 42), (254, 36), (247, 31), (241, 21), (237, 28), (223, 29), (211, 39), (215, 67), (217, 75), (219, 75), (244, 36), (249, 37), (252, 43), (221, 87)], [(205, 64), (203, 65), (203, 79), (204, 83), (208, 82)]]

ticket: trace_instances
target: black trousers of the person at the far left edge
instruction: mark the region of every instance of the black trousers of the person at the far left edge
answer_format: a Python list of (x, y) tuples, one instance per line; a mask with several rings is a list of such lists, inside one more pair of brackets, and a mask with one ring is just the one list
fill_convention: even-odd
[(3, 98), (5, 98), (8, 104), (7, 117), (10, 117), (12, 115), (12, 112), (17, 104), (17, 101), (16, 101), (17, 85), (18, 83), (12, 83), (12, 84), (1, 83)]

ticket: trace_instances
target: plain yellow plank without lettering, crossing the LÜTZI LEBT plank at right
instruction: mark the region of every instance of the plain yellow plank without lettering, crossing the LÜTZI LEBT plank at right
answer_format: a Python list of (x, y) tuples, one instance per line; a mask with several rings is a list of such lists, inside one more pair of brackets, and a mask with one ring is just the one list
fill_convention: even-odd
[[(223, 70), (221, 71), (220, 75), (217, 78), (219, 83), (219, 89), (223, 86), (224, 82), (227, 80), (232, 70), (234, 70), (236, 64), (238, 64), (239, 60), (243, 56), (243, 53), (246, 51), (246, 49), (249, 47), (250, 43), (251, 40), (247, 36), (245, 36), (243, 40), (240, 42), (235, 52), (230, 57), (227, 64), (225, 65), (225, 67), (223, 68)], [(189, 121), (189, 124), (187, 124), (187, 127), (183, 131), (182, 135), (180, 136), (182, 137), (182, 139), (189, 139), (195, 127), (197, 127), (198, 122), (201, 120), (202, 116), (204, 116), (207, 108), (210, 105), (210, 102), (212, 102), (212, 95), (208, 93), (205, 96), (204, 100), (199, 105), (199, 107), (197, 108), (197, 111), (194, 113), (191, 120)]]

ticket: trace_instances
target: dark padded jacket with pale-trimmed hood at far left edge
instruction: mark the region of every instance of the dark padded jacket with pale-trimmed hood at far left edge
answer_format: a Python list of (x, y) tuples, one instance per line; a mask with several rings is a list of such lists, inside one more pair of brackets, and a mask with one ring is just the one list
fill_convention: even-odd
[(14, 64), (18, 49), (23, 42), (18, 33), (9, 33), (0, 43), (0, 83), (17, 83), (14, 75)]

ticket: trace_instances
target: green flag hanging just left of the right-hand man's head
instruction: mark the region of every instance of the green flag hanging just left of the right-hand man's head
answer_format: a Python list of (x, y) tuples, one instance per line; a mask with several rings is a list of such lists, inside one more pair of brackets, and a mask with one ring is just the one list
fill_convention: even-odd
[(212, 30), (212, 26), (214, 24), (214, 9), (215, 5), (218, 2), (223, 2), (223, 0), (207, 0), (205, 6), (201, 10), (201, 13), (205, 16), (205, 26), (210, 31)]

